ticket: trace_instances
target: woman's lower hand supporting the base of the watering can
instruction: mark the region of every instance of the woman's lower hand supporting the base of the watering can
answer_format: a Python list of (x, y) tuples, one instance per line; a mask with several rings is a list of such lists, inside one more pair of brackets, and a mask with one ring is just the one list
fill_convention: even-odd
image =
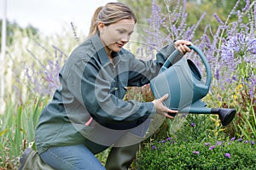
[(173, 116), (168, 115), (168, 113), (176, 114), (177, 111), (173, 111), (173, 110), (169, 109), (168, 107), (166, 107), (165, 105), (163, 105), (163, 101), (166, 100), (168, 97), (169, 97), (168, 94), (166, 94), (163, 97), (161, 97), (160, 99), (154, 99), (152, 102), (156, 109), (156, 113), (158, 113), (162, 116), (166, 116), (170, 119), (173, 119)]

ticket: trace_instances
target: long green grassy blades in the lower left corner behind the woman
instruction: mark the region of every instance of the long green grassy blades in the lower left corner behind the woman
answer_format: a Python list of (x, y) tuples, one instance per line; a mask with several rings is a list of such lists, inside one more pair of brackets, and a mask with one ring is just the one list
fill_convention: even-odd
[(9, 103), (0, 115), (0, 167), (16, 169), (20, 155), (33, 144), (38, 118), (47, 99), (35, 99), (26, 105)]

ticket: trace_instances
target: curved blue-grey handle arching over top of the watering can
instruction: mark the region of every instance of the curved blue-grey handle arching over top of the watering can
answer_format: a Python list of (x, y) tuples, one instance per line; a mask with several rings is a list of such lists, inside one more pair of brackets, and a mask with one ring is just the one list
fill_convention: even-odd
[[(206, 66), (206, 71), (207, 71), (207, 82), (206, 82), (206, 86), (210, 87), (210, 84), (212, 82), (212, 71), (210, 68), (210, 65), (208, 64), (207, 58), (206, 56), (201, 52), (201, 49), (195, 47), (194, 45), (189, 45), (188, 46), (190, 49), (193, 49), (197, 54), (199, 54), (199, 56), (201, 57), (201, 60), (203, 62), (203, 64)], [(175, 58), (179, 55), (179, 51), (176, 49), (169, 57), (168, 59), (166, 59), (165, 64), (162, 66), (161, 70), (166, 70), (167, 68), (169, 68), (170, 66), (172, 66), (173, 61), (175, 60)]]

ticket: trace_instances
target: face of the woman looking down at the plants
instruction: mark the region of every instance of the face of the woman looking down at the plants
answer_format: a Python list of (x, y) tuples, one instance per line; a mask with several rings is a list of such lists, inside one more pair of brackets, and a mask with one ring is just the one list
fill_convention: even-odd
[(112, 51), (119, 52), (125, 43), (129, 42), (134, 26), (135, 21), (132, 19), (119, 20), (109, 26), (99, 22), (100, 38), (108, 55)]

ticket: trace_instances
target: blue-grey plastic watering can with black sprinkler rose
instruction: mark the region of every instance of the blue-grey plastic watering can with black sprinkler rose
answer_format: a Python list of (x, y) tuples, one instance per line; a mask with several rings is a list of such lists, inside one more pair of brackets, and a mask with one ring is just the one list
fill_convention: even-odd
[[(223, 126), (227, 126), (236, 115), (235, 109), (208, 108), (207, 104), (201, 101), (207, 93), (212, 82), (212, 71), (207, 58), (201, 50), (194, 45), (188, 46), (195, 53), (199, 54), (206, 67), (206, 82), (201, 77), (201, 72), (191, 59), (178, 58), (179, 51), (176, 49), (161, 67), (157, 77), (150, 81), (150, 88), (155, 99), (169, 94), (164, 101), (168, 108), (179, 113), (194, 114), (218, 114)], [(175, 116), (176, 114), (170, 114)]]

